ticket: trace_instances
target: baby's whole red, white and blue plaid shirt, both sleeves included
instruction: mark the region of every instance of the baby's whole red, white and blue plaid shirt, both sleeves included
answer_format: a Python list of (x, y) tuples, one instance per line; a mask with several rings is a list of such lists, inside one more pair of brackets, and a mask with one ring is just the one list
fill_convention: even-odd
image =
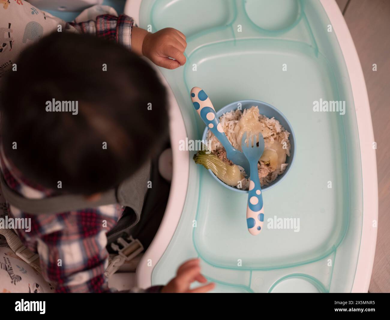
[[(98, 37), (115, 40), (131, 49), (133, 19), (110, 14), (97, 16), (96, 21), (67, 23), (66, 29), (79, 33), (92, 33)], [(7, 160), (3, 148), (0, 163), (7, 185), (25, 198), (41, 199), (55, 195), (27, 181)], [(56, 292), (110, 292), (103, 275), (108, 266), (106, 233), (121, 217), (119, 204), (57, 213), (55, 215), (32, 215), (8, 205), (9, 215), (14, 218), (30, 218), (31, 230), (18, 229), (22, 242), (31, 251), (37, 252), (44, 278), (56, 282)], [(103, 224), (103, 220), (106, 224)], [(159, 292), (154, 286), (146, 292)], [(135, 289), (135, 292), (140, 290)], [(145, 292), (145, 291), (143, 291)]]

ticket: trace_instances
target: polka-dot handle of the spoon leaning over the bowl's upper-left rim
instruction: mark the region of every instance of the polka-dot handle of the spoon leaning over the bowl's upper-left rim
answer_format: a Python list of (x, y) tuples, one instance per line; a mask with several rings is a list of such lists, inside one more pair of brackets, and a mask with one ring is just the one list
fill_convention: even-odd
[(233, 149), (230, 141), (227, 139), (218, 116), (215, 113), (213, 104), (206, 93), (199, 87), (191, 89), (191, 100), (195, 110), (202, 118), (207, 127), (215, 134), (216, 138), (222, 143), (225, 150)]

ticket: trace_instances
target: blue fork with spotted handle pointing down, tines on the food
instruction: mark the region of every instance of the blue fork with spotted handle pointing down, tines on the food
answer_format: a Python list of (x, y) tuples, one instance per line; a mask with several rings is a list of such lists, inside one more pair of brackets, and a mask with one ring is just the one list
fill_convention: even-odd
[(255, 135), (251, 135), (248, 138), (248, 145), (246, 144), (246, 132), (241, 141), (241, 147), (249, 160), (250, 171), (253, 173), (249, 178), (246, 224), (248, 225), (248, 231), (254, 236), (261, 232), (264, 223), (263, 196), (261, 194), (259, 172), (257, 170), (257, 163), (264, 151), (264, 138), (261, 133), (257, 137), (259, 141), (258, 146)]

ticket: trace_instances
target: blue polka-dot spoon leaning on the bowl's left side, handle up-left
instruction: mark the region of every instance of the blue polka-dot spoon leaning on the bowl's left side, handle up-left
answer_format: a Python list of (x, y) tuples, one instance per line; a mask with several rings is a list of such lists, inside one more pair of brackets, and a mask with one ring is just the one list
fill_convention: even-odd
[(233, 148), (233, 146), (230, 144), (230, 141), (227, 139), (225, 132), (223, 132), (222, 125), (219, 122), (218, 116), (215, 113), (215, 109), (211, 103), (210, 98), (207, 97), (206, 93), (199, 87), (193, 87), (191, 89), (191, 100), (196, 111), (200, 115), (200, 118), (202, 118), (203, 122), (206, 123), (207, 127), (210, 128), (211, 132), (213, 132), (220, 143), (222, 143), (226, 150), (227, 158), (232, 161), (232, 163), (242, 166), (245, 170), (245, 173), (249, 176), (250, 166), (248, 159), (246, 159), (242, 152)]

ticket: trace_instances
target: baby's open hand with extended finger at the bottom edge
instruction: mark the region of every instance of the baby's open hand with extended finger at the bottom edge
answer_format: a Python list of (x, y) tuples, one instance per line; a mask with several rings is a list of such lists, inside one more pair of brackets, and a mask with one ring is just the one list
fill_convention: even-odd
[(199, 259), (191, 259), (183, 263), (177, 269), (176, 278), (173, 278), (161, 289), (162, 293), (204, 293), (213, 290), (214, 282), (190, 290), (190, 284), (194, 281), (205, 283), (207, 279), (200, 274)]

